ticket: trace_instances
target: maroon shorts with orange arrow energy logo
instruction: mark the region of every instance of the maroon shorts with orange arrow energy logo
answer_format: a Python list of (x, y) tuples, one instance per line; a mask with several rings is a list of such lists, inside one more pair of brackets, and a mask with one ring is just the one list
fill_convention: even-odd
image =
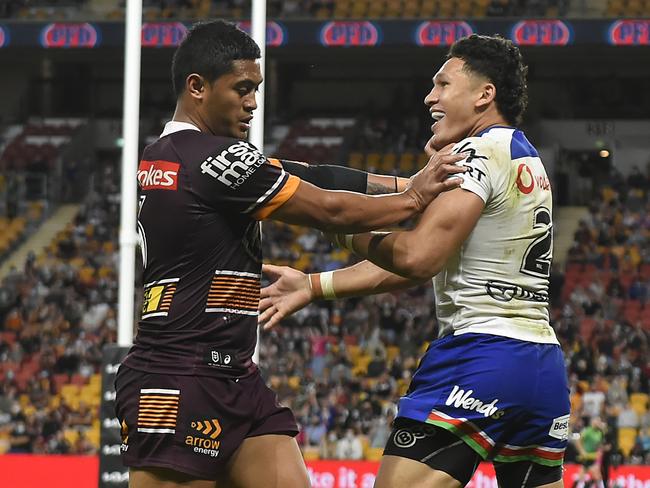
[(298, 433), (259, 372), (240, 380), (144, 373), (120, 366), (116, 414), (122, 460), (216, 480), (247, 437)]

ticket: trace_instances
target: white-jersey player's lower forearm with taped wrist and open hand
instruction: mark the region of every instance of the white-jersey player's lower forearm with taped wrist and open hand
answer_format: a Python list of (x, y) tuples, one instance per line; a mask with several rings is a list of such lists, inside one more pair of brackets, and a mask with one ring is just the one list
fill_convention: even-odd
[(260, 292), (259, 322), (267, 330), (314, 300), (373, 295), (422, 283), (390, 273), (368, 261), (311, 275), (288, 266), (267, 264), (262, 271), (273, 280)]

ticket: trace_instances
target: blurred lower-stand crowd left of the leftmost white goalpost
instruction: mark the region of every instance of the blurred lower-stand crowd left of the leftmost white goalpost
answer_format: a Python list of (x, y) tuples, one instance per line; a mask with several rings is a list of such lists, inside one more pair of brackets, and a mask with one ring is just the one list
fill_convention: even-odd
[(102, 347), (116, 340), (111, 168), (74, 222), (0, 284), (0, 452), (95, 453)]

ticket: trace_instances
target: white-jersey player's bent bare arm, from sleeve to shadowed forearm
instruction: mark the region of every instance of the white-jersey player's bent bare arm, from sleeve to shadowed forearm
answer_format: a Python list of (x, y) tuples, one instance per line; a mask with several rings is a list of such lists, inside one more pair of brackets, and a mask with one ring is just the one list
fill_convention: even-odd
[(485, 203), (467, 190), (440, 195), (408, 231), (337, 236), (357, 255), (411, 280), (438, 274), (478, 222)]

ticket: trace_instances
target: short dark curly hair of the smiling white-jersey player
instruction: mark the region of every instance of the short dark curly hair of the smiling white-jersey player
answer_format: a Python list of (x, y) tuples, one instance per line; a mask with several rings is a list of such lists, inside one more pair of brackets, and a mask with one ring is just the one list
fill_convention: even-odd
[(528, 105), (528, 67), (519, 48), (501, 36), (472, 34), (452, 44), (447, 58), (465, 61), (465, 68), (490, 80), (497, 89), (499, 113), (511, 125), (521, 123)]

